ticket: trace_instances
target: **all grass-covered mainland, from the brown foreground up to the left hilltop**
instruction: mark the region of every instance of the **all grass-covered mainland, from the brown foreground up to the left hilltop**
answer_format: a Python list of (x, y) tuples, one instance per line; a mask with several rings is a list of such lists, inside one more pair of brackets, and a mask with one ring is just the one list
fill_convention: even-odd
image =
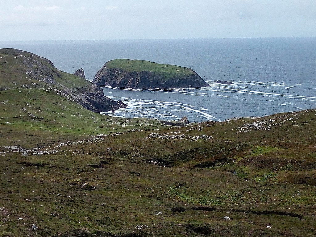
[(0, 56), (1, 237), (315, 236), (316, 109), (113, 118), (62, 93), (81, 78), (45, 59), (30, 78), (18, 55)]

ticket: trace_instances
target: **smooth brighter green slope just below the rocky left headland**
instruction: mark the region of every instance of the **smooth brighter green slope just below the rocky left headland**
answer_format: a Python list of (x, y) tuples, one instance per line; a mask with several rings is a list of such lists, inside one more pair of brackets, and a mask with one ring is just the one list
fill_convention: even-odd
[[(155, 120), (119, 119), (93, 113), (49, 88), (0, 91), (0, 145), (27, 149), (89, 134), (157, 129)], [(34, 139), (36, 138), (36, 139)]]

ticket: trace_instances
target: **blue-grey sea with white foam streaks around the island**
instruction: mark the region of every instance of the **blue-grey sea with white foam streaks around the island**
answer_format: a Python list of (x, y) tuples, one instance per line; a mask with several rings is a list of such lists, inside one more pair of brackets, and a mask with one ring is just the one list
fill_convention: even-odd
[[(107, 61), (149, 60), (190, 67), (210, 87), (118, 89), (104, 94), (128, 108), (111, 116), (190, 122), (260, 117), (316, 107), (316, 38), (0, 41), (51, 60), (60, 70), (83, 68), (92, 81)], [(233, 82), (232, 85), (216, 83)]]

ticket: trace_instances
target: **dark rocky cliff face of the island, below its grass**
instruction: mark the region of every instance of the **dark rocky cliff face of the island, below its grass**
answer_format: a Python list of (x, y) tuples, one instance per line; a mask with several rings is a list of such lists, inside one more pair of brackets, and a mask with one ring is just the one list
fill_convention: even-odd
[(117, 88), (197, 88), (209, 86), (192, 69), (190, 74), (127, 71), (121, 68), (107, 68), (104, 66), (94, 76), (93, 83), (100, 86)]

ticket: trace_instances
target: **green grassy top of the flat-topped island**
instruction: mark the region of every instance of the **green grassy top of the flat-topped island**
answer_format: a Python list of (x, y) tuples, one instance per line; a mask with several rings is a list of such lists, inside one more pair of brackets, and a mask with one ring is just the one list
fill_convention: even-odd
[(170, 64), (157, 64), (144, 60), (114, 59), (106, 63), (107, 68), (121, 68), (126, 71), (150, 71), (195, 74), (190, 68), (180, 67)]

